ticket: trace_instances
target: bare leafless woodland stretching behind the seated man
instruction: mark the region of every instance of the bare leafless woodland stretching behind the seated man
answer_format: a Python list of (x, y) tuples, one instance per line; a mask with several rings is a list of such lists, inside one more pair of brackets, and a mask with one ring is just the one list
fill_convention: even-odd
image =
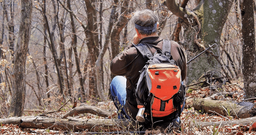
[[(134, 26), (129, 21), (132, 12), (146, 8), (155, 11), (160, 18), (158, 35), (162, 39), (177, 41), (186, 53), (187, 61), (209, 45), (217, 44), (213, 50), (188, 64), (184, 84), (189, 86), (203, 78), (207, 78), (209, 83), (216, 79), (223, 84), (244, 82), (243, 12), (239, 0), (32, 2), (24, 109), (48, 110), (69, 99), (79, 103), (111, 100), (109, 83), (114, 75), (109, 70), (109, 64), (132, 42), (135, 34)], [(4, 118), (12, 99), (21, 1), (1, 0), (0, 4), (0, 118)], [(251, 5), (254, 5), (252, 16), (255, 16), (255, 1), (251, 1)], [(254, 50), (251, 48), (252, 54), (247, 57), (254, 58), (254, 61), (246, 59), (251, 65), (255, 65), (254, 33), (254, 28), (251, 34), (248, 33), (254, 39)], [(248, 72), (256, 71), (253, 68)], [(244, 97), (255, 97), (255, 76), (248, 78), (254, 79), (254, 82), (249, 81), (248, 86), (244, 83), (245, 92), (251, 92)], [(191, 89), (195, 88), (188, 91)]]

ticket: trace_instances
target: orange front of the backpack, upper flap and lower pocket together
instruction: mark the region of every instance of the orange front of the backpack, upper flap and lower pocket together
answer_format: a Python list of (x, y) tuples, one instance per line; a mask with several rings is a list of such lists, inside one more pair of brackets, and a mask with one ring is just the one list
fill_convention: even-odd
[(154, 95), (152, 116), (164, 117), (171, 114), (176, 110), (172, 96), (180, 89), (180, 68), (172, 63), (154, 63), (146, 71), (148, 90)]

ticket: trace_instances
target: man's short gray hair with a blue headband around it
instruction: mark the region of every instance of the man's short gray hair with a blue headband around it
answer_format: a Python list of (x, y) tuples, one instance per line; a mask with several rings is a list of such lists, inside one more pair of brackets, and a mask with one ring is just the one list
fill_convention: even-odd
[(132, 16), (131, 21), (141, 35), (148, 36), (157, 32), (156, 25), (158, 22), (158, 17), (149, 9), (136, 11)]

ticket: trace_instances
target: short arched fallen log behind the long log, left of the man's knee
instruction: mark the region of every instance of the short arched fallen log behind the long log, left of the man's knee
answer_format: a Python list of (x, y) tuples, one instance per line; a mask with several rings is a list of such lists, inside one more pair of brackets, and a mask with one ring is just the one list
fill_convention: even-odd
[(79, 107), (75, 107), (75, 108), (71, 109), (70, 111), (68, 111), (65, 115), (62, 116), (62, 118), (67, 118), (68, 116), (73, 117), (73, 116), (76, 116), (76, 115), (82, 114), (82, 113), (91, 113), (91, 114), (98, 115), (101, 117), (108, 117), (109, 115), (111, 115), (110, 111), (100, 109), (95, 106), (81, 104)]

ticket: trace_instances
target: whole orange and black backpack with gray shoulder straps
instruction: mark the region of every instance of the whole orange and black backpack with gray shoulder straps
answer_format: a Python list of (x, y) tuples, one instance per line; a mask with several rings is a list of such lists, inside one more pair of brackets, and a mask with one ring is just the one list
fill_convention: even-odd
[(170, 54), (171, 41), (163, 40), (163, 53), (158, 49), (154, 55), (143, 43), (135, 47), (148, 59), (135, 90), (138, 108), (146, 108), (149, 115), (152, 112), (152, 117), (164, 117), (176, 110), (180, 116), (186, 93), (181, 84), (180, 68)]

